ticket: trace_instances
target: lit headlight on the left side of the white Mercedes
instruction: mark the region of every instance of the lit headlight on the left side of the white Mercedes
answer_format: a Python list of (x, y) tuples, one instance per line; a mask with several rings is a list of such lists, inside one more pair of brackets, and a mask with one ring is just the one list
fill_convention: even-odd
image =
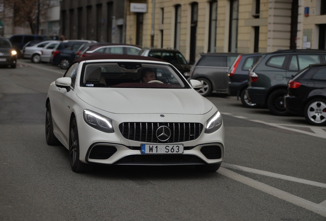
[(85, 122), (91, 127), (103, 132), (114, 132), (112, 120), (110, 118), (97, 114), (96, 112), (92, 112), (88, 109), (84, 110), (83, 116)]

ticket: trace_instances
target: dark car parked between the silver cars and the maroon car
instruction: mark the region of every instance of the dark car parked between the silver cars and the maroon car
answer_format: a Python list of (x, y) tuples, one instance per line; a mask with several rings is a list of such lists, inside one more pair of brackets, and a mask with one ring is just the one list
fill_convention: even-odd
[(84, 44), (82, 41), (61, 42), (58, 47), (52, 51), (50, 62), (58, 65), (62, 69), (69, 68), (71, 62), (75, 60), (77, 50)]

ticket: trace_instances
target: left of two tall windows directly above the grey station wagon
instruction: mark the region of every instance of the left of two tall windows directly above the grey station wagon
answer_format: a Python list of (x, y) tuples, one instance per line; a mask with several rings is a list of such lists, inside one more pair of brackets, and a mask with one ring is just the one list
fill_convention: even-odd
[(210, 2), (208, 52), (216, 52), (217, 1)]

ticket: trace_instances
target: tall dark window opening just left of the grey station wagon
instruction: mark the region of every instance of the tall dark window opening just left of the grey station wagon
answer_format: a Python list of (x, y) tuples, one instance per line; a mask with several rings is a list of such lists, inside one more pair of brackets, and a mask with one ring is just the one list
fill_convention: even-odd
[(191, 4), (191, 28), (190, 28), (190, 63), (196, 60), (198, 3)]

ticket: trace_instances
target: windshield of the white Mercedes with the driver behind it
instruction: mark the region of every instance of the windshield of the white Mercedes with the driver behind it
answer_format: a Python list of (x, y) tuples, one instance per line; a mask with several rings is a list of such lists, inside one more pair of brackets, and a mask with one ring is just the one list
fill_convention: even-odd
[[(147, 72), (155, 77), (144, 82)], [(84, 87), (131, 87), (182, 89), (189, 84), (168, 64), (141, 62), (85, 63), (81, 78)]]

